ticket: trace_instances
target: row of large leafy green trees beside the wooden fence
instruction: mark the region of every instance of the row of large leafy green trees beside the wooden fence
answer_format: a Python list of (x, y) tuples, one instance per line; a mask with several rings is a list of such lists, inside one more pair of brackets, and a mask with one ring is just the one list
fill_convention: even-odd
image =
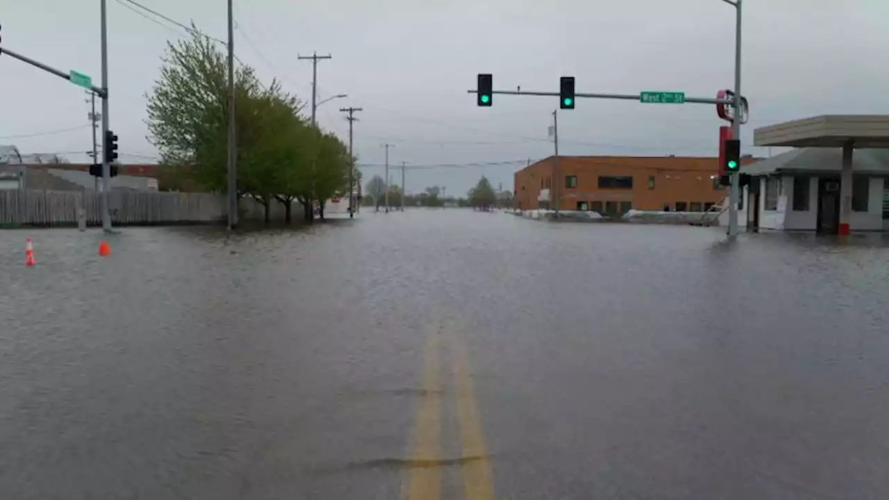
[[(162, 158), (164, 190), (228, 190), (228, 63), (192, 26), (191, 38), (168, 43), (148, 98), (148, 134)], [(249, 66), (235, 71), (237, 196), (265, 206), (292, 202), (311, 222), (317, 206), (348, 197), (355, 158), (333, 133), (310, 124), (304, 104), (277, 80), (262, 85)], [(360, 186), (360, 172), (355, 171)]]

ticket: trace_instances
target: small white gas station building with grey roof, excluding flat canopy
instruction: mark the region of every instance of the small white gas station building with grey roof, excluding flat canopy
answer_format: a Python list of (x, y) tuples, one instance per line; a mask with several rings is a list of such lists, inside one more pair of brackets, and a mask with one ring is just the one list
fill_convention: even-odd
[[(751, 229), (837, 234), (842, 148), (800, 148), (741, 168)], [(856, 149), (850, 230), (889, 230), (889, 149)]]

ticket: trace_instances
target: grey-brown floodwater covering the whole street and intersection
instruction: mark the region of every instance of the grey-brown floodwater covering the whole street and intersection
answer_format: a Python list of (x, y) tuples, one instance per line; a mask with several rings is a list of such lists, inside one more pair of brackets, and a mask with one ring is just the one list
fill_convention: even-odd
[(0, 498), (889, 496), (878, 237), (415, 210), (100, 238), (0, 233)]

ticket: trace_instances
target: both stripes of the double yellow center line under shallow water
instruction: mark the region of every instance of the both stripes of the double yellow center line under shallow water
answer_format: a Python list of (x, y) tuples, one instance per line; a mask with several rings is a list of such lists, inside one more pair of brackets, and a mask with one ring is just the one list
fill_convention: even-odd
[[(475, 385), (469, 375), (469, 353), (462, 336), (454, 331), (439, 332), (430, 326), (424, 361), (424, 396), (417, 410), (411, 468), (405, 483), (408, 500), (438, 500), (441, 472), (445, 464), (461, 464), (463, 490), (467, 500), (493, 499), (493, 473), (485, 451), (485, 439), (476, 404)], [(451, 347), (457, 415), (460, 421), (461, 456), (441, 456), (441, 401), (445, 397), (439, 379), (440, 344)]]

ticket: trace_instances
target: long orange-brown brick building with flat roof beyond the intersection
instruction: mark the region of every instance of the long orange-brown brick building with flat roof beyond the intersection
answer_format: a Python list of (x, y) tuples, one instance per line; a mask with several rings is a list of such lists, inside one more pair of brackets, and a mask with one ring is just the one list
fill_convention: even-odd
[[(516, 208), (550, 208), (554, 165), (548, 157), (515, 174)], [(559, 157), (559, 209), (701, 212), (728, 194), (719, 186), (718, 167), (717, 157)]]

